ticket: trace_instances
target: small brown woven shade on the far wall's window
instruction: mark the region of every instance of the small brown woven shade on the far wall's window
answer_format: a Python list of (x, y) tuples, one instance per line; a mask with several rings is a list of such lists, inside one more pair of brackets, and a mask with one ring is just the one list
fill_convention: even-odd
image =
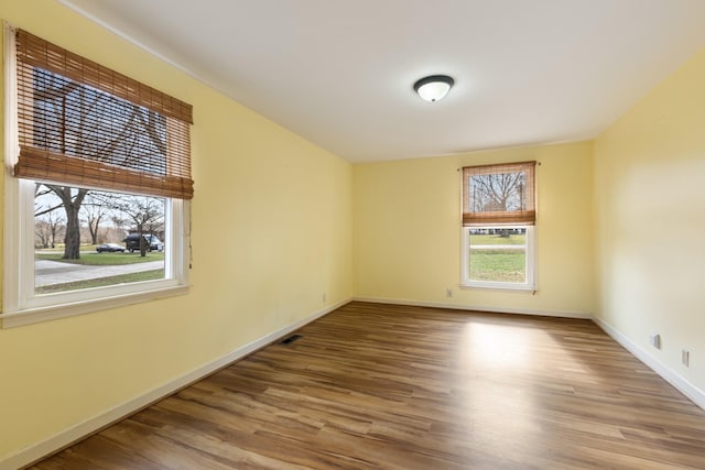
[(536, 162), (463, 168), (463, 225), (532, 226)]

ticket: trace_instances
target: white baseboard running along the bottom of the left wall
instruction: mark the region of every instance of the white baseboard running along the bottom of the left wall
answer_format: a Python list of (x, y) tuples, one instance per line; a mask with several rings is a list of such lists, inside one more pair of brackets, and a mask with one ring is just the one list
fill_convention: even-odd
[(261, 349), (262, 347), (282, 338), (290, 332), (301, 328), (302, 326), (323, 317), (326, 314), (335, 310), (336, 308), (341, 307), (343, 305), (349, 303), (350, 299), (340, 300), (336, 304), (329, 305), (306, 318), (303, 318), (299, 321), (294, 321), (293, 324), (280, 328), (271, 334), (263, 336), (248, 345), (245, 345), (241, 348), (238, 348), (214, 361), (210, 361), (202, 367), (192, 370), (191, 372), (185, 373), (156, 389), (152, 389), (149, 392), (139, 395), (126, 403), (117, 405), (110, 409), (107, 409), (89, 419), (86, 419), (82, 423), (78, 423), (75, 426), (72, 426), (67, 429), (64, 429), (54, 436), (48, 437), (45, 440), (33, 444), (20, 451), (10, 455), (9, 457), (0, 460), (0, 470), (15, 470), (18, 468), (22, 468), (24, 466), (29, 466), (53, 452), (56, 452), (59, 449), (63, 449), (86, 436), (89, 436), (93, 433), (96, 433), (99, 429), (102, 429), (106, 426), (109, 426), (134, 412), (149, 406), (150, 404), (171, 395), (172, 393), (183, 389), (184, 386), (196, 382), (203, 379), (206, 375), (212, 374), (213, 372), (225, 368), (226, 365)]

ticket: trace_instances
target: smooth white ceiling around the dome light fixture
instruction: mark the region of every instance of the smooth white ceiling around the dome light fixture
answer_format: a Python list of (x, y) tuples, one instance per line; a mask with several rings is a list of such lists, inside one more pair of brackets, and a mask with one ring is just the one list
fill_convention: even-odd
[(592, 139), (705, 46), (705, 0), (61, 1), (351, 162)]

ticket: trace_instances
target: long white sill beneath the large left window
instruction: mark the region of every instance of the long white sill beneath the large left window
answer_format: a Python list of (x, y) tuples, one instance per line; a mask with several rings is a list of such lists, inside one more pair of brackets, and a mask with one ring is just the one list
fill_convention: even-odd
[(28, 308), (24, 310), (9, 311), (0, 315), (2, 329), (73, 317), (75, 315), (107, 310), (109, 308), (124, 307), (132, 304), (156, 300), (159, 298), (174, 297), (188, 293), (188, 285), (177, 285), (152, 289), (149, 292), (130, 293), (111, 297), (96, 298), (83, 302), (72, 302), (47, 307)]

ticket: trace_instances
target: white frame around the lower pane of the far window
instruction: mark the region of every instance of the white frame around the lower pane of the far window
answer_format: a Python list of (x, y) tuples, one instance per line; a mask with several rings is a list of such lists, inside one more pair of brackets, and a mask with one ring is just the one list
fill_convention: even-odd
[(514, 282), (486, 282), (470, 280), (470, 230), (473, 229), (501, 229), (507, 228), (500, 226), (482, 226), (482, 227), (463, 227), (462, 230), (462, 256), (460, 263), (460, 287), (466, 288), (486, 288), (497, 291), (536, 291), (536, 233), (535, 226), (511, 226), (511, 228), (521, 228), (527, 231), (527, 256), (525, 256), (525, 281), (523, 283)]

